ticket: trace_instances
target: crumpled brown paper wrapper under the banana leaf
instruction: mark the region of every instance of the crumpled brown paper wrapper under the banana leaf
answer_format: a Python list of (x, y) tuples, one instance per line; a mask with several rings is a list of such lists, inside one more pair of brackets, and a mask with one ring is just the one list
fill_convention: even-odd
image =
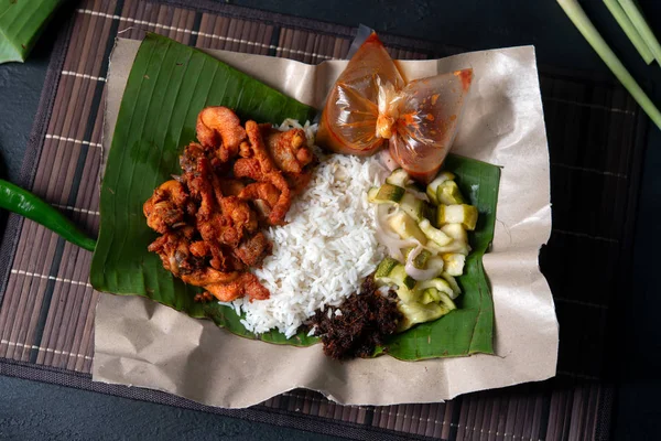
[[(111, 56), (104, 147), (140, 42)], [(323, 107), (347, 62), (317, 66), (225, 51), (209, 54), (302, 103)], [(205, 405), (243, 408), (294, 388), (343, 405), (436, 402), (555, 375), (557, 321), (538, 267), (551, 233), (549, 152), (534, 47), (398, 62), (405, 77), (473, 67), (475, 80), (453, 152), (502, 166), (496, 235), (484, 259), (496, 311), (496, 355), (339, 363), (321, 345), (250, 341), (140, 297), (104, 294), (97, 306), (93, 379), (164, 390)]]

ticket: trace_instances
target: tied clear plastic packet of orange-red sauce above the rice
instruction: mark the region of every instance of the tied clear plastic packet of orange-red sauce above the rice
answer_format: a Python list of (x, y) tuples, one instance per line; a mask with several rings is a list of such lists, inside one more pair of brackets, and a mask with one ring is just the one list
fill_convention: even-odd
[(405, 84), (372, 32), (328, 94), (317, 141), (358, 155), (388, 143), (400, 166), (429, 183), (452, 147), (472, 82), (467, 68)]

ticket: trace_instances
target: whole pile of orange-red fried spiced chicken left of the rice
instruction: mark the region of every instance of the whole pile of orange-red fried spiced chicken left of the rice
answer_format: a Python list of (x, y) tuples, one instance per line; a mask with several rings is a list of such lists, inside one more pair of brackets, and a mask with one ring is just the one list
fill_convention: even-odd
[(314, 155), (305, 133), (254, 121), (242, 127), (226, 107), (203, 109), (196, 130), (198, 142), (180, 157), (182, 175), (143, 205), (149, 227), (161, 235), (149, 250), (206, 290), (196, 300), (268, 299), (249, 269), (261, 267), (273, 247), (260, 226), (283, 224), (293, 194), (310, 182)]

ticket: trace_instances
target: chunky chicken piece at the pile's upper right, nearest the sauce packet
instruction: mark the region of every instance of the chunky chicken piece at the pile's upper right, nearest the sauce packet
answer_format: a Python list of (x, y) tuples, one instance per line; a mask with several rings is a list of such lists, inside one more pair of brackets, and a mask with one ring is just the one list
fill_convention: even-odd
[(260, 125), (260, 131), (269, 154), (283, 173), (301, 173), (313, 161), (303, 130), (280, 131), (269, 125)]

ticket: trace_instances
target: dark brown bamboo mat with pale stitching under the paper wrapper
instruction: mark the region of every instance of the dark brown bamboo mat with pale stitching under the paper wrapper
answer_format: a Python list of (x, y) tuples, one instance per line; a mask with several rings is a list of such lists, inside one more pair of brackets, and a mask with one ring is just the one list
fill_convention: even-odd
[[(105, 77), (115, 36), (154, 31), (185, 44), (319, 63), (343, 58), (355, 30), (227, 4), (85, 0), (55, 45), (23, 166), (23, 184), (95, 235)], [(382, 35), (395, 58), (455, 47)], [(343, 407), (296, 390), (246, 410), (93, 384), (91, 255), (12, 216), (0, 259), (0, 374), (357, 439), (593, 440), (608, 437), (610, 306), (630, 270), (646, 119), (624, 89), (541, 71), (551, 149), (553, 234), (541, 266), (560, 320), (555, 379), (445, 404)]]

